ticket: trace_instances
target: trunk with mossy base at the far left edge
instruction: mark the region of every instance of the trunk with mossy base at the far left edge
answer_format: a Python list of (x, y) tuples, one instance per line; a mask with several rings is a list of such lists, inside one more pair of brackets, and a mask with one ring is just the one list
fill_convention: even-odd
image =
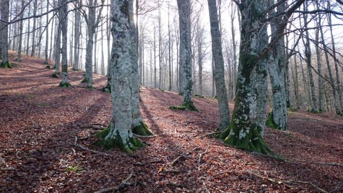
[(8, 24), (5, 22), (8, 22), (9, 17), (9, 1), (8, 0), (2, 0), (2, 10), (1, 10), (1, 20), (4, 22), (0, 22), (0, 26), (2, 28), (2, 62), (0, 64), (0, 67), (2, 68), (11, 68), (11, 65), (8, 61)]

